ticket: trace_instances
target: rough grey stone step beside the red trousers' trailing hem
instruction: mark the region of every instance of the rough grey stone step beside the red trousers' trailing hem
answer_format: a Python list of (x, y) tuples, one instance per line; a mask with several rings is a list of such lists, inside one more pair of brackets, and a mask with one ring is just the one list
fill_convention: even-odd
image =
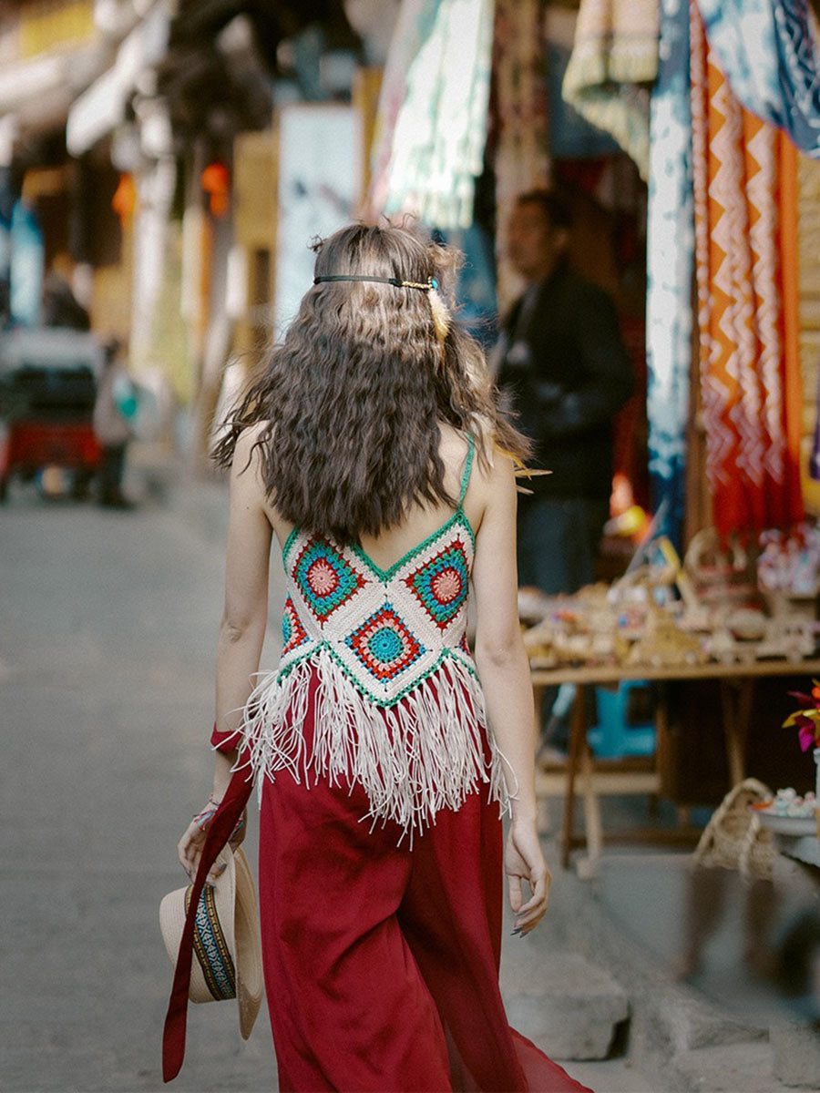
[(626, 992), (573, 952), (539, 956), (507, 945), (502, 992), (509, 1023), (553, 1059), (605, 1059), (629, 1019)]

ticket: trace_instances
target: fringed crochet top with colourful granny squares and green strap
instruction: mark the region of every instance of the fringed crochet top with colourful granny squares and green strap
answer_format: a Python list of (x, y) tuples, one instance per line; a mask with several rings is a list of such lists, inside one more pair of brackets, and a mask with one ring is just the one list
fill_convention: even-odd
[(281, 659), (259, 677), (242, 728), (257, 778), (286, 768), (308, 786), (359, 783), (367, 815), (411, 837), (482, 783), (507, 804), (466, 638), (476, 546), (462, 507), (468, 440), (455, 513), (388, 569), (360, 545), (293, 529), (282, 551)]

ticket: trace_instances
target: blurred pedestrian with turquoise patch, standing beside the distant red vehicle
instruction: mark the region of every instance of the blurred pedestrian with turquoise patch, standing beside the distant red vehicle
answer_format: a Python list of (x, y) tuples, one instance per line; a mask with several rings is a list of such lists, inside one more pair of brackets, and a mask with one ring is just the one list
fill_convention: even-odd
[(118, 338), (105, 345), (103, 372), (94, 402), (94, 432), (103, 449), (97, 474), (97, 502), (106, 508), (131, 508), (122, 493), (128, 444), (133, 438), (137, 396)]

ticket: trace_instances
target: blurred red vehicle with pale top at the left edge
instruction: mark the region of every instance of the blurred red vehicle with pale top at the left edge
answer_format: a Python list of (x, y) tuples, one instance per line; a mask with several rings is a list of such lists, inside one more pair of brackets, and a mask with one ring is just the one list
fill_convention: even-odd
[(103, 346), (94, 334), (47, 327), (0, 334), (0, 502), (14, 475), (60, 468), (81, 495), (99, 466), (92, 415)]

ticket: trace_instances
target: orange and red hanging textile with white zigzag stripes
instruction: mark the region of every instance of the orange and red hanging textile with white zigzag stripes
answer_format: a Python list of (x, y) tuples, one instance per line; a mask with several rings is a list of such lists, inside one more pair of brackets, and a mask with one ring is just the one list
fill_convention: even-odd
[(701, 397), (722, 536), (803, 518), (796, 153), (735, 97), (691, 2)]

